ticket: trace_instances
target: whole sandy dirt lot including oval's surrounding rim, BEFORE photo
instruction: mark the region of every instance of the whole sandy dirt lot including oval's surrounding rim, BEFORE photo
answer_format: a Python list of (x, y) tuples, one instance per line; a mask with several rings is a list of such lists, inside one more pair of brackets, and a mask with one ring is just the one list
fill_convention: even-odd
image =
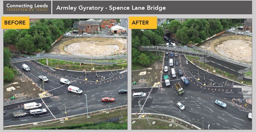
[(127, 54), (127, 39), (124, 38), (62, 38), (49, 51), (51, 54), (74, 54), (108, 56)]

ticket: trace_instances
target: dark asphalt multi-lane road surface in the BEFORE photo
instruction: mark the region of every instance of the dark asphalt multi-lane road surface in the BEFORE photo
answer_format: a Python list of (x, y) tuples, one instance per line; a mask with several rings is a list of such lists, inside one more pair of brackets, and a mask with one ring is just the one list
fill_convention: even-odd
[[(27, 64), (30, 71), (22, 69), (22, 64)], [(104, 72), (87, 72), (87, 81), (84, 81), (85, 73), (79, 71), (67, 71), (38, 64), (35, 61), (24, 61), (13, 63), (13, 65), (23, 72), (27, 78), (30, 78), (38, 85), (42, 85), (39, 75), (49, 78), (49, 82), (44, 82), (45, 91), (53, 96), (39, 98), (25, 102), (14, 103), (4, 106), (4, 126), (21, 125), (26, 123), (64, 118), (67, 116), (90, 114), (93, 111), (111, 109), (127, 105), (127, 94), (119, 94), (118, 90), (127, 89), (127, 71), (104, 71)], [(97, 75), (97, 78), (96, 78)], [(79, 87), (83, 90), (82, 94), (69, 93), (68, 85), (60, 83), (60, 78), (67, 78), (72, 86)], [(94, 80), (98, 80), (95, 82)], [(33, 90), (33, 88), (26, 88)], [(86, 102), (87, 96), (87, 102)], [(102, 97), (113, 97), (115, 102), (102, 102)], [(13, 117), (13, 112), (28, 112), (23, 109), (24, 103), (37, 102), (47, 109), (47, 113), (38, 115), (26, 115), (23, 117)], [(88, 103), (88, 105), (87, 105)], [(87, 107), (88, 106), (88, 107)]]

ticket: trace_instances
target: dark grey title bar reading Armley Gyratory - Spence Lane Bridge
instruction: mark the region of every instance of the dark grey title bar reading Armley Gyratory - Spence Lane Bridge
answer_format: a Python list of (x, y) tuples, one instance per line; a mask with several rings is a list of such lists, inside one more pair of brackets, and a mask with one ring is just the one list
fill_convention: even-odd
[(53, 0), (53, 14), (252, 14), (252, 1)]

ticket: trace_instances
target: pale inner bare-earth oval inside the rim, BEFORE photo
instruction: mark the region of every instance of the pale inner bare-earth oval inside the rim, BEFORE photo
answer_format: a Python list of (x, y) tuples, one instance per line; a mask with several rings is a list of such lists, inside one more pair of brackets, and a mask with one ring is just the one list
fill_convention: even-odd
[(74, 55), (108, 56), (119, 50), (118, 45), (100, 45), (99, 41), (83, 41), (69, 44), (64, 50)]

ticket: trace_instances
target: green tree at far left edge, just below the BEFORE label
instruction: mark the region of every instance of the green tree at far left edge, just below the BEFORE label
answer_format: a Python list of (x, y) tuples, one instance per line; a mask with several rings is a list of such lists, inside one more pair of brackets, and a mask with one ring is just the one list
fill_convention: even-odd
[(16, 29), (9, 29), (4, 32), (4, 44), (15, 44), (17, 42), (18, 31)]

